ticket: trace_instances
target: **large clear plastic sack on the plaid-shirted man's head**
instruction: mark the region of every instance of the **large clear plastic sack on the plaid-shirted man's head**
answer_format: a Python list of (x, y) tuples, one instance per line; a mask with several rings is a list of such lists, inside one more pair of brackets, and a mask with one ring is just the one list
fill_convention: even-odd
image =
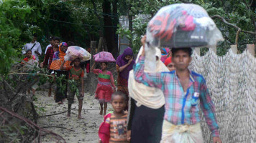
[(223, 40), (206, 10), (196, 4), (164, 6), (147, 24), (147, 41), (152, 46), (212, 46)]

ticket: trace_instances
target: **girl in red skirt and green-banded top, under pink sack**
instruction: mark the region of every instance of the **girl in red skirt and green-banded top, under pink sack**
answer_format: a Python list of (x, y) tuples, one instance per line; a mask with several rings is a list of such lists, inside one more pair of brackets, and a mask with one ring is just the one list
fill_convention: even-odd
[[(91, 71), (98, 75), (98, 85), (95, 92), (95, 98), (99, 99), (99, 104), (101, 105), (101, 111), (99, 114), (102, 115), (103, 104), (104, 104), (104, 115), (106, 114), (107, 102), (111, 101), (111, 94), (113, 94), (113, 89), (116, 91), (116, 86), (114, 85), (114, 78), (111, 71), (106, 70), (107, 62), (101, 62), (101, 69), (94, 69), (96, 62), (93, 63)], [(111, 87), (112, 86), (112, 87)]]

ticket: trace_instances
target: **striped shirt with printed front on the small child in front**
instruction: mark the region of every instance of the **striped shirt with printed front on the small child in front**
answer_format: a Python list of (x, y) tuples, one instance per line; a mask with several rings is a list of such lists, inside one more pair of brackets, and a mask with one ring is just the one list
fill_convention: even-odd
[(127, 114), (122, 117), (111, 114), (110, 119), (106, 119), (106, 122), (110, 123), (109, 143), (127, 143)]

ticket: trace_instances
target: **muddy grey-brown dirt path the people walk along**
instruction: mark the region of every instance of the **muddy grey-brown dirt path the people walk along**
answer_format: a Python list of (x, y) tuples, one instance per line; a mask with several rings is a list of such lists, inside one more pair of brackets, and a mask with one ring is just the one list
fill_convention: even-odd
[[(35, 105), (37, 107), (42, 107), (45, 112), (40, 113), (40, 115), (55, 114), (59, 112), (64, 112), (68, 110), (68, 102), (65, 101), (63, 105), (58, 105), (55, 103), (53, 97), (47, 97), (47, 92), (40, 91), (36, 93), (37, 101)], [(78, 101), (72, 104), (72, 108), (76, 107), (71, 111), (71, 117), (67, 118), (67, 112), (63, 114), (58, 114), (50, 117), (42, 117), (38, 119), (38, 124), (41, 127), (65, 127), (68, 129), (73, 129), (75, 132), (67, 129), (58, 128), (47, 128), (52, 130), (57, 134), (60, 134), (66, 142), (86, 142), (86, 143), (96, 143), (98, 142), (98, 129), (99, 125), (103, 121), (103, 116), (99, 115), (99, 104), (93, 96), (85, 94), (83, 99), (83, 109), (82, 117), (83, 119), (78, 119)], [(111, 111), (111, 104), (108, 105), (108, 112)], [(44, 137), (42, 142), (52, 142), (51, 139)]]

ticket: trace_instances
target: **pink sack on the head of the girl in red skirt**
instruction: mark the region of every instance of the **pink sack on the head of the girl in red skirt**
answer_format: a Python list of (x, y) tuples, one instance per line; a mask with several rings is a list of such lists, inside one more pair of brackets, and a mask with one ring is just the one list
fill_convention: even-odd
[(107, 51), (101, 51), (98, 54), (93, 55), (93, 59), (97, 62), (116, 62), (113, 55)]

